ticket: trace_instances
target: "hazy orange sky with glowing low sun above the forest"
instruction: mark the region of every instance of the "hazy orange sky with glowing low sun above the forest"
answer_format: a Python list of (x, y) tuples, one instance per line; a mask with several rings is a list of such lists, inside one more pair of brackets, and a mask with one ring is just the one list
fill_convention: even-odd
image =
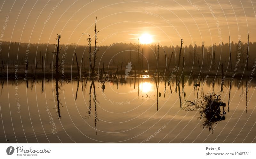
[[(211, 46), (221, 42), (256, 41), (256, 0), (1, 0), (2, 41), (86, 45), (137, 43), (142, 34), (150, 44)], [(144, 36), (145, 37), (145, 36)], [(146, 38), (147, 39), (147, 38)], [(144, 38), (145, 40), (145, 38)]]

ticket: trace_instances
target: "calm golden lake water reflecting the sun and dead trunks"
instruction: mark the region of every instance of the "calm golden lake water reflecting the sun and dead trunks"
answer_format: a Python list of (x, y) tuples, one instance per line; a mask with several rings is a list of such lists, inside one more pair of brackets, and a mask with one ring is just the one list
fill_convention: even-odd
[[(1, 143), (256, 143), (255, 80), (0, 81)], [(209, 130), (184, 102), (213, 91), (226, 114)]]

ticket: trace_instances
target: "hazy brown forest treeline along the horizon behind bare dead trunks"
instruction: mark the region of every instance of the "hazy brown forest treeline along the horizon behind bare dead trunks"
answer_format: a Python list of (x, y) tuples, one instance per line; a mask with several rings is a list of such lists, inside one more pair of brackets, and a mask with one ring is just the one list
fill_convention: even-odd
[[(223, 64), (224, 68), (228, 70), (233, 70), (235, 67), (244, 70), (246, 68), (247, 60), (247, 42), (231, 42), (218, 44), (213, 46), (204, 46), (203, 43), (198, 43), (196, 45), (185, 45), (186, 41), (181, 50), (181, 61), (184, 57), (184, 67), (185, 69), (202, 68), (202, 70), (215, 70)], [(62, 42), (61, 42), (62, 43)], [(64, 60), (66, 68), (72, 66), (76, 67), (76, 57), (77, 55), (79, 67), (85, 70), (89, 69), (89, 47), (87, 41), (84, 41), (84, 45), (74, 45), (74, 44), (62, 44), (63, 47), (60, 51), (59, 59)], [(9, 67), (15, 64), (23, 65), (28, 60), (29, 65), (37, 65), (37, 68), (42, 67), (42, 62), (44, 67), (51, 67), (52, 63), (56, 61), (56, 57), (52, 52), (55, 52), (56, 47), (52, 44), (28, 44), (28, 43), (17, 43), (17, 42), (2, 42), (0, 58), (3, 61), (3, 65), (6, 67), (7, 62)], [(140, 69), (156, 69), (157, 59), (159, 59), (159, 68), (164, 69), (166, 65), (174, 67), (178, 65), (180, 46), (157, 46), (156, 45), (138, 45), (132, 43), (113, 43), (109, 46), (98, 46), (99, 49), (97, 53), (96, 68), (101, 68), (102, 62), (105, 63), (106, 69), (108, 67), (114, 68), (117, 65), (124, 63), (124, 66), (128, 62), (132, 62), (132, 66)], [(229, 49), (231, 52), (229, 52)], [(249, 43), (249, 58), (248, 67), (252, 67), (256, 54), (256, 42)], [(138, 53), (139, 51), (139, 53)], [(173, 53), (173, 55), (172, 55)], [(165, 56), (166, 55), (166, 56)], [(171, 56), (172, 55), (172, 56)], [(215, 58), (214, 58), (215, 55)], [(231, 61), (229, 61), (231, 55)], [(43, 57), (42, 57), (43, 56)], [(172, 57), (172, 58), (171, 58)], [(171, 60), (170, 60), (171, 59)], [(61, 61), (60, 61), (61, 63)], [(232, 68), (230, 68), (230, 63), (232, 63)], [(25, 65), (25, 64), (24, 64)], [(220, 69), (219, 69), (220, 70)]]

